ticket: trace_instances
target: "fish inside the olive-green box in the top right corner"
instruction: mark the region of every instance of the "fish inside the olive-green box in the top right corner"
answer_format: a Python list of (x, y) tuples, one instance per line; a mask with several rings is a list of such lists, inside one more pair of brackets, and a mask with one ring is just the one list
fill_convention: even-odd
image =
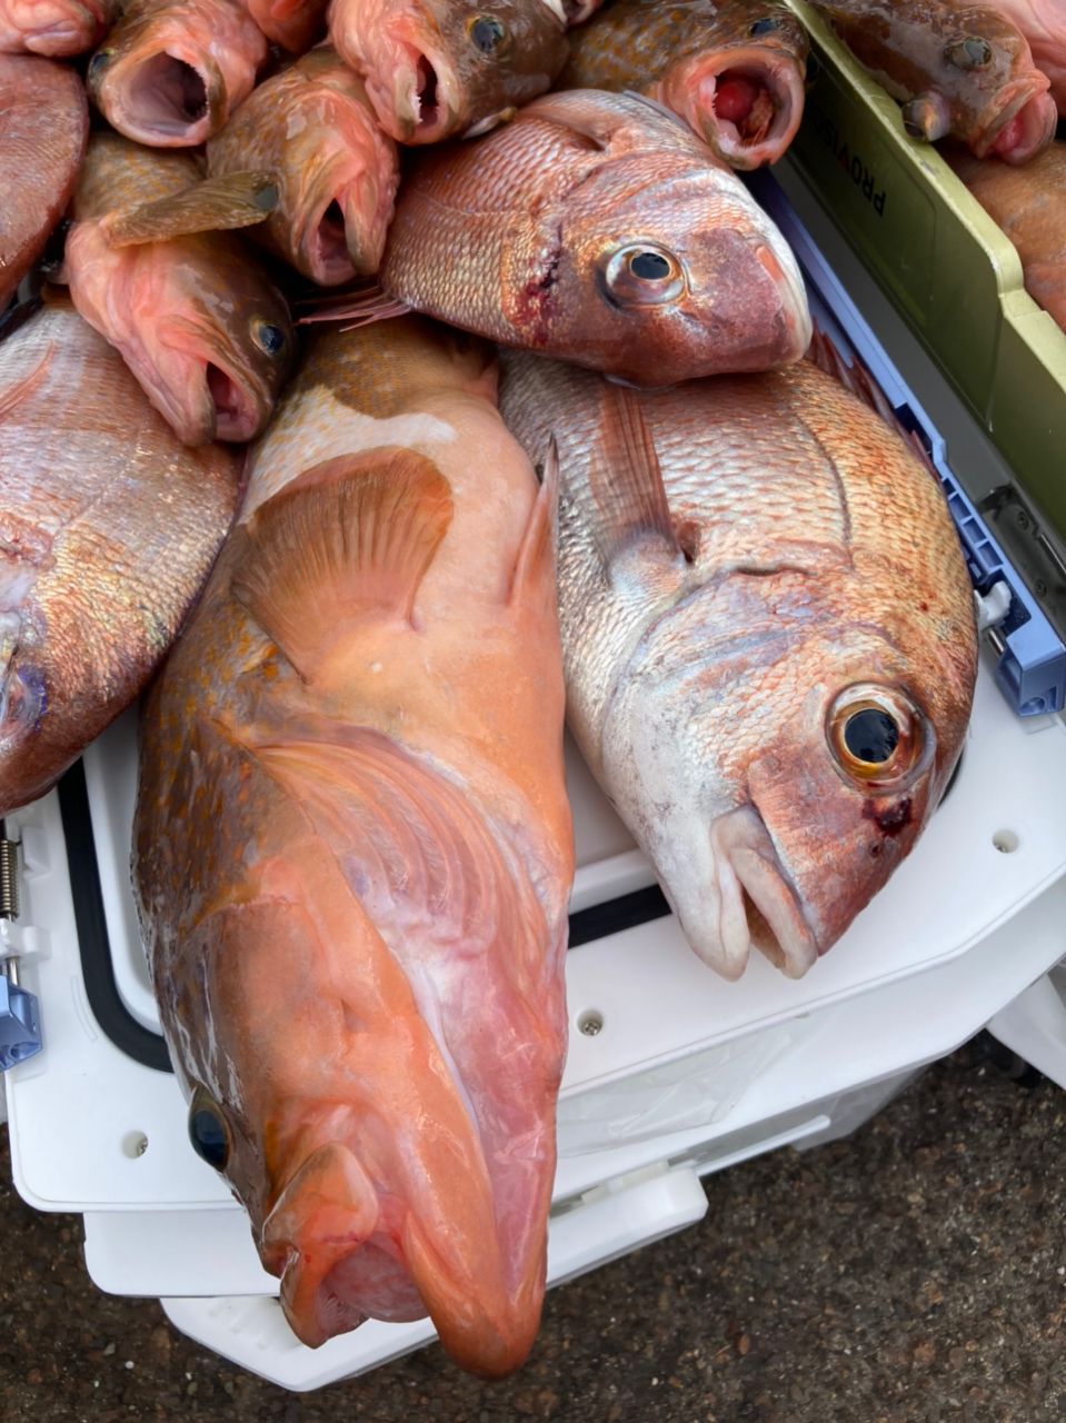
[(811, 0), (1018, 248), (1066, 330), (1066, 0)]

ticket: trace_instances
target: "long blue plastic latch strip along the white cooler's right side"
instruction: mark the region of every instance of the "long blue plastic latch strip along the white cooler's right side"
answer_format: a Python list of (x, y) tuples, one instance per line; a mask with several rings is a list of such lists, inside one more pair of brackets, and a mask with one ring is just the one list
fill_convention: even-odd
[(1003, 639), (995, 673), (999, 690), (1018, 716), (1062, 712), (1066, 706), (1066, 645), (952, 474), (942, 435), (885, 356), (776, 179), (767, 172), (747, 178), (796, 253), (807, 279), (811, 316), (844, 359), (858, 359), (867, 367), (901, 425), (917, 433), (925, 445), (944, 487), (973, 588), (983, 596), (1003, 582), (1010, 591), (1010, 606), (999, 625)]

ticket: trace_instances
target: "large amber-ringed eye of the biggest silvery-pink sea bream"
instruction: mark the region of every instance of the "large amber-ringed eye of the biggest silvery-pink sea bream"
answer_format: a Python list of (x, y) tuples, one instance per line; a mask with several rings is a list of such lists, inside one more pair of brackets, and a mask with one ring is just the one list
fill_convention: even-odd
[(828, 714), (828, 741), (850, 780), (895, 785), (922, 761), (922, 714), (897, 687), (847, 687)]

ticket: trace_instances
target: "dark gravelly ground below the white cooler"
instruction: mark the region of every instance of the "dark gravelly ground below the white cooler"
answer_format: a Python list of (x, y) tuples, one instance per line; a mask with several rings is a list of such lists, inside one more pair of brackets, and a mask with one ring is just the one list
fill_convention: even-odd
[(971, 1044), (847, 1141), (706, 1183), (702, 1225), (548, 1296), (525, 1369), (426, 1349), (286, 1395), (90, 1284), (77, 1217), (10, 1187), (0, 1419), (1039, 1423), (1066, 1417), (1066, 1096)]

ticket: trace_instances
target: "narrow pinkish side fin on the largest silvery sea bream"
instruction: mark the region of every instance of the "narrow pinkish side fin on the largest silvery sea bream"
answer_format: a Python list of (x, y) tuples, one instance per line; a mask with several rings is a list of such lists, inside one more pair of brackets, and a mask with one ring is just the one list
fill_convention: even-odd
[(609, 566), (623, 548), (648, 536), (670, 555), (680, 554), (655, 440), (639, 398), (626, 386), (606, 380), (602, 391), (599, 444), (589, 462), (593, 536), (601, 556)]

